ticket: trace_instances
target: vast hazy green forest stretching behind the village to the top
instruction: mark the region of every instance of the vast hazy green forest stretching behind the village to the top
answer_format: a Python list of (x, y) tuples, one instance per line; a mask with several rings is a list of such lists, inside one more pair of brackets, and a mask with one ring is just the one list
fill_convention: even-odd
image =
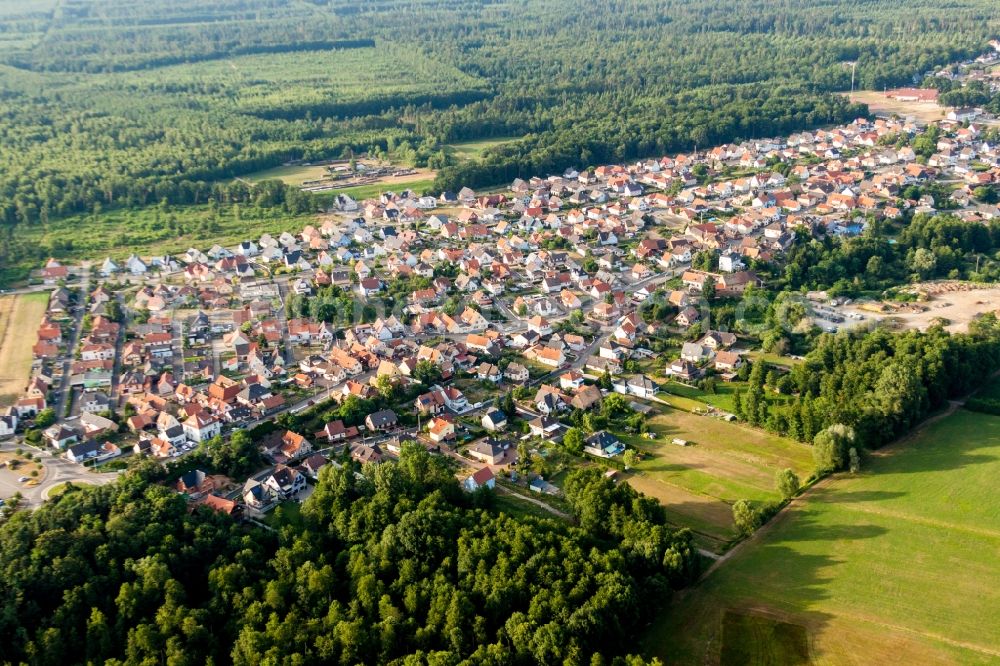
[[(391, 154), (437, 189), (773, 135), (981, 51), (960, 0), (0, 4), (0, 224)], [(522, 137), (453, 163), (448, 142)]]

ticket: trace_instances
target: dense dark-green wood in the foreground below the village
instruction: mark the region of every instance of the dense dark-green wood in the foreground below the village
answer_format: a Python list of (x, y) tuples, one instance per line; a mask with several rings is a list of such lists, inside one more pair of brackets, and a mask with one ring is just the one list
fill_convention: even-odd
[(594, 470), (567, 479), (569, 526), (498, 513), (407, 446), (362, 478), (327, 467), (275, 533), (189, 513), (160, 469), (0, 527), (0, 659), (638, 664), (637, 631), (696, 574), (688, 533)]

